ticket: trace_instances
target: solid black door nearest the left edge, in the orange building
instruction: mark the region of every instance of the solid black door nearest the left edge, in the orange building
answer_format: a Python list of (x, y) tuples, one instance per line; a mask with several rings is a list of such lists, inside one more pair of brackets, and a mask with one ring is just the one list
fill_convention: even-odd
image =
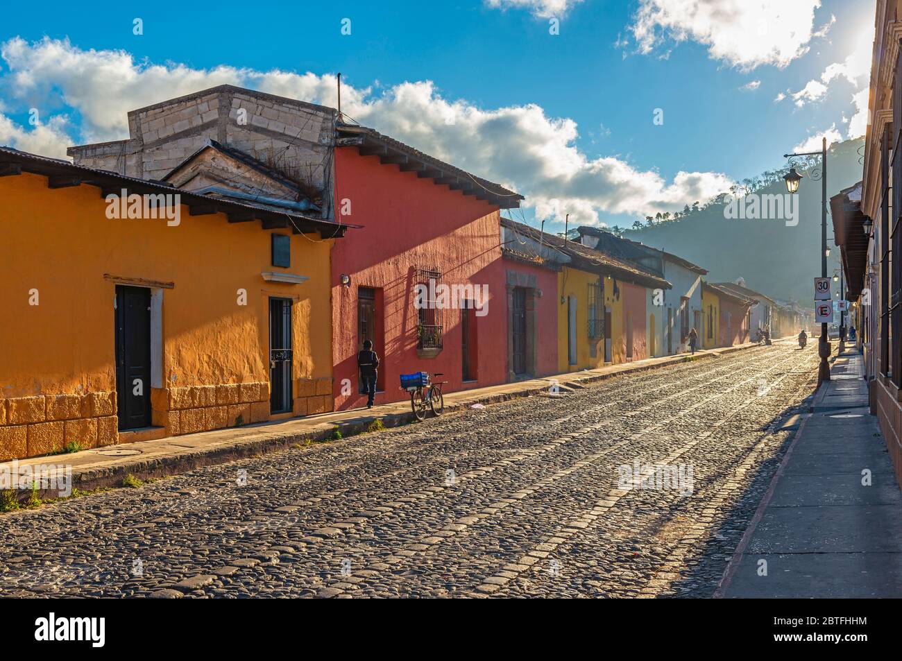
[(115, 384), (119, 429), (150, 427), (150, 289), (116, 285)]

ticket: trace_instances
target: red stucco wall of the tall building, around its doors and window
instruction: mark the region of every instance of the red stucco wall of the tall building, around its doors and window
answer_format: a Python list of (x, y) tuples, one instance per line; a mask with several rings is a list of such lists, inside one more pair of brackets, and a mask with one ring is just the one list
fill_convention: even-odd
[[(344, 222), (364, 225), (354, 231), (353, 241), (336, 243), (332, 255), (336, 409), (365, 404), (365, 396), (358, 394), (356, 366), (358, 287), (382, 289), (384, 301), (376, 313), (384, 325), (384, 342), (374, 348), (382, 358), (385, 383), (377, 404), (408, 397), (399, 390), (398, 377), (405, 372), (444, 372), (446, 390), (463, 387), (459, 309), (442, 310), (442, 352), (434, 358), (418, 356), (418, 266), (436, 266), (445, 284), (488, 286), (488, 312), (476, 319), (479, 378), (466, 387), (505, 381), (507, 291), (498, 207), (420, 179), (415, 172), (401, 172), (375, 156), (361, 156), (354, 147), (336, 150), (336, 200), (339, 208), (342, 200), (350, 203)], [(343, 273), (351, 278), (348, 288), (340, 284)]]

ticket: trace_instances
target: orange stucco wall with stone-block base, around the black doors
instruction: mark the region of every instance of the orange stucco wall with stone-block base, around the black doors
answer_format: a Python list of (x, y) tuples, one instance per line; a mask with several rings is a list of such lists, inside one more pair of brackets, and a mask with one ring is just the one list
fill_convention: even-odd
[[(162, 388), (152, 390), (153, 424), (167, 433), (226, 427), (239, 415), (244, 422), (269, 418), (271, 295), (296, 300), (296, 411), (331, 408), (332, 242), (292, 236), (292, 268), (280, 270), (271, 265), (272, 232), (259, 222), (189, 216), (187, 207), (179, 226), (111, 220), (97, 188), (49, 189), (47, 179), (31, 174), (0, 178), (0, 198), (0, 458), (23, 455), (22, 435), (27, 446), (32, 425), (44, 422), (112, 416), (81, 427), (67, 423), (64, 436), (57, 427), (43, 430), (52, 432), (53, 443), (66, 437), (90, 447), (117, 440), (115, 281), (105, 275), (174, 283), (161, 289)], [(262, 271), (309, 280), (265, 282)], [(38, 305), (29, 304), (32, 289)], [(246, 306), (238, 305), (238, 289), (246, 289)], [(112, 402), (92, 409), (91, 393), (113, 395)]]

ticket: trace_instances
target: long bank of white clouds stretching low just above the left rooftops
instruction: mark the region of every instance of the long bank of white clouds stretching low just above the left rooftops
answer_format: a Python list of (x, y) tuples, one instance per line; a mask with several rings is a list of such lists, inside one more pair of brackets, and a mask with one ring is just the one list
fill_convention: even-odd
[[(7, 41), (0, 53), (10, 69), (0, 84), (12, 88), (12, 97), (28, 96), (30, 103), (39, 91), (46, 98), (60, 97), (81, 117), (82, 141), (127, 137), (127, 111), (223, 83), (336, 105), (336, 80), (330, 75), (138, 64), (124, 51), (79, 50), (68, 41), (49, 39)], [(483, 109), (448, 101), (430, 81), (406, 82), (378, 94), (345, 84), (342, 110), (361, 124), (519, 191), (539, 216), (570, 213), (572, 220), (593, 224), (599, 212), (654, 215), (704, 201), (732, 183), (721, 173), (686, 171), (668, 181), (619, 157), (590, 158), (575, 144), (578, 132), (571, 119), (548, 117), (532, 104)], [(61, 133), (56, 138), (52, 148), (34, 151), (59, 153), (67, 143), (78, 142)]]

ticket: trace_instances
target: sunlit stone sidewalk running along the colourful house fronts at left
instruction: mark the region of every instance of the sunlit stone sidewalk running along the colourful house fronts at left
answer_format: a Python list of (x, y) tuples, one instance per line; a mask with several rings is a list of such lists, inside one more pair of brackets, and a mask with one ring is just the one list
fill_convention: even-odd
[[(695, 352), (694, 360), (716, 358), (757, 344), (708, 349)], [(594, 370), (557, 374), (541, 379), (503, 383), (475, 390), (445, 393), (445, 409), (465, 409), (474, 404), (495, 402), (547, 393), (554, 381), (560, 390), (583, 388), (594, 382), (635, 372), (657, 369), (666, 365), (685, 363), (687, 353), (661, 358), (649, 358), (634, 363), (608, 365)], [(71, 468), (71, 485), (81, 491), (100, 487), (121, 486), (123, 478), (132, 474), (140, 479), (164, 477), (199, 468), (224, 464), (255, 454), (265, 454), (289, 448), (309, 441), (331, 438), (337, 428), (342, 436), (363, 432), (373, 420), (381, 419), (385, 427), (397, 427), (414, 419), (410, 400), (384, 404), (373, 409), (353, 409), (337, 413), (323, 413), (305, 418), (291, 418), (278, 422), (265, 422), (243, 427), (230, 427), (216, 431), (168, 436), (160, 440), (142, 441), (124, 445), (85, 450), (72, 454), (20, 459), (18, 462), (0, 464), (0, 472), (31, 472), (41, 466), (65, 465)], [(428, 418), (427, 418), (428, 419)], [(47, 469), (51, 474), (53, 468)], [(26, 495), (21, 494), (23, 497)], [(52, 497), (52, 491), (42, 491), (41, 497)]]

